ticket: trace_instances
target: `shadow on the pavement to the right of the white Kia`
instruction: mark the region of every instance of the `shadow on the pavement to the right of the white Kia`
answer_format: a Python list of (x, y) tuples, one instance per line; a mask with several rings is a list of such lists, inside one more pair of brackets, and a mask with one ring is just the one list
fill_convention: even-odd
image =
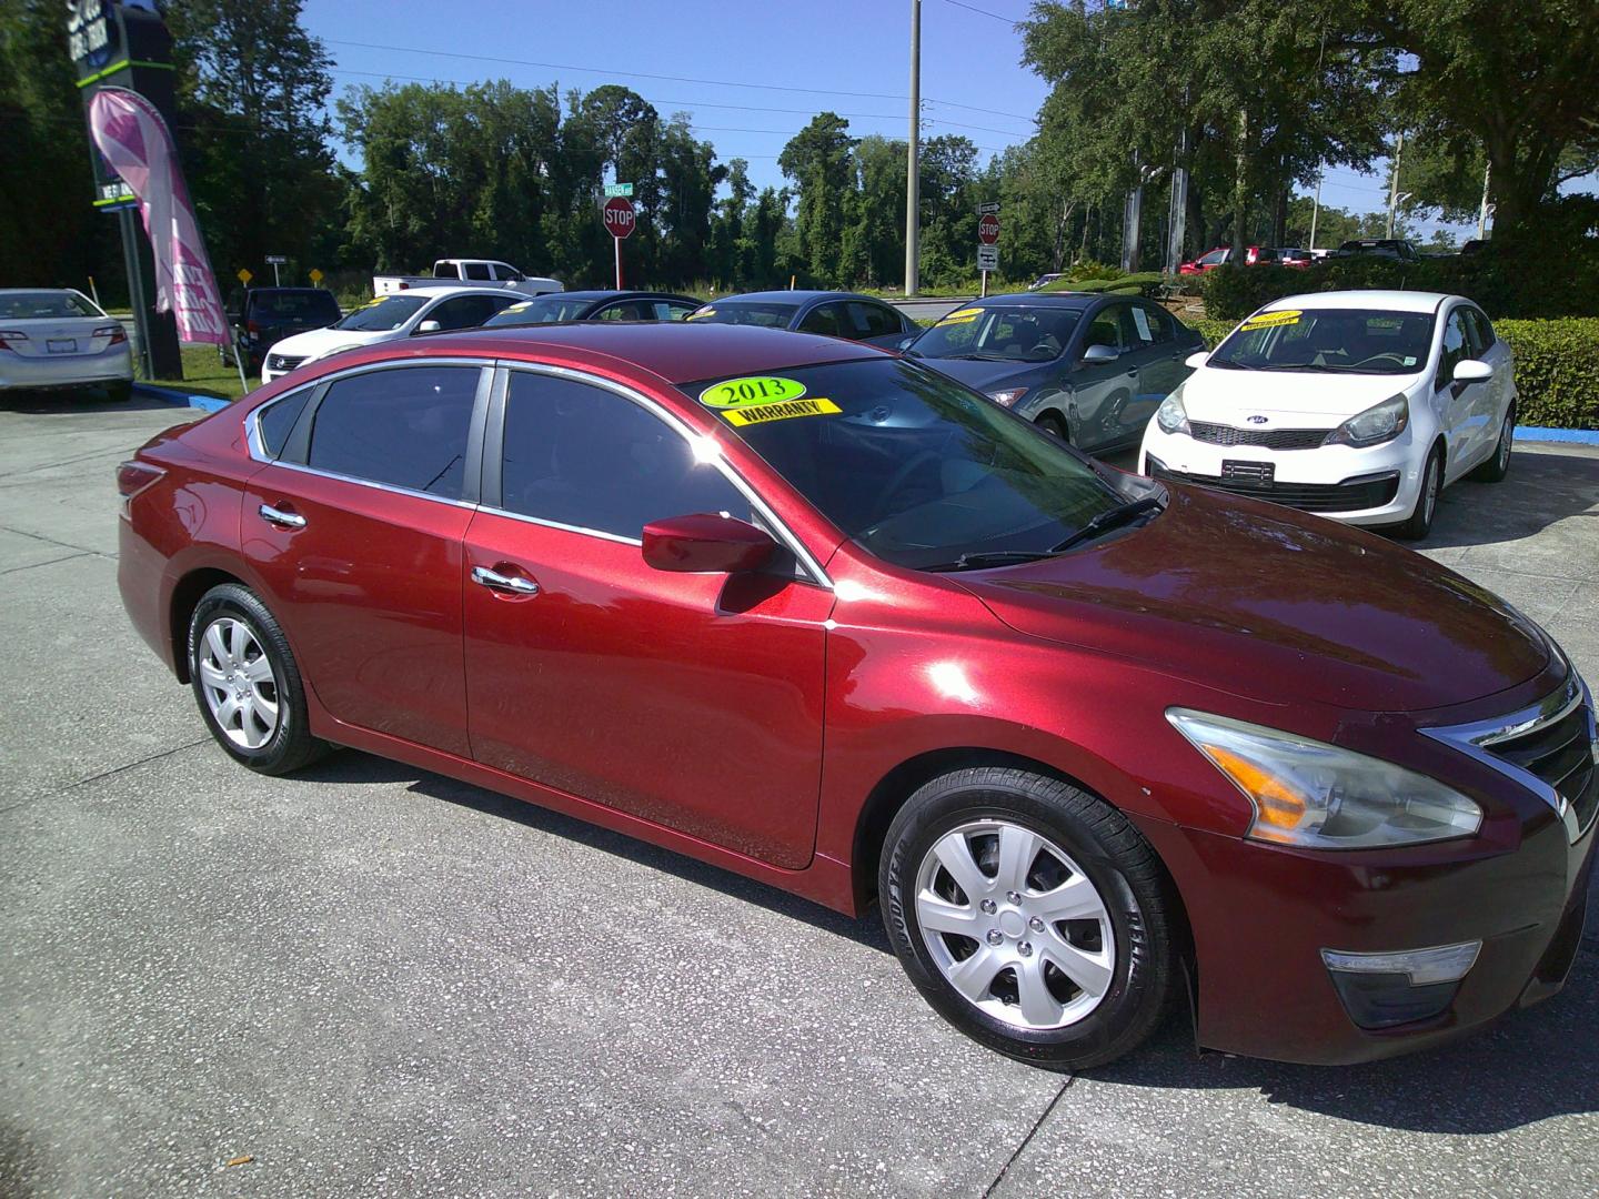
[(1439, 499), (1433, 531), (1410, 548), (1521, 540), (1567, 516), (1593, 521), (1588, 532), (1578, 532), (1577, 545), (1585, 537), (1599, 539), (1599, 457), (1521, 448), (1511, 454), (1503, 483), (1466, 478), (1449, 488)]

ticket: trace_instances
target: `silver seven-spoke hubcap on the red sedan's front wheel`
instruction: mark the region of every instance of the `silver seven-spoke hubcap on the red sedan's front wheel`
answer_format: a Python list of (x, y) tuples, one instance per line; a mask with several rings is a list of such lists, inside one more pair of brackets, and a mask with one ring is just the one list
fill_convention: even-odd
[(1099, 889), (1060, 846), (1007, 820), (939, 838), (916, 871), (916, 924), (945, 982), (1017, 1028), (1075, 1025), (1115, 978)]

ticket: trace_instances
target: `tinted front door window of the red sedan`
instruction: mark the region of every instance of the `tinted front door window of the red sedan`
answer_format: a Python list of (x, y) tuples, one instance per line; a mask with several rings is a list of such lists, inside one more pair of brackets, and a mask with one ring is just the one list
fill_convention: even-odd
[(750, 504), (654, 412), (590, 384), (513, 371), (505, 393), (500, 507), (638, 539), (649, 521)]

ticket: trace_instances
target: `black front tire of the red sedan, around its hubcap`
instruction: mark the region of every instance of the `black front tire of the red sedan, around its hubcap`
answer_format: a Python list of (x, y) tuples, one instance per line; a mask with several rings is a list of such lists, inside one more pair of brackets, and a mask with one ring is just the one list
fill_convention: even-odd
[[(967, 999), (945, 977), (929, 946), (934, 932), (924, 937), (918, 918), (918, 876), (935, 844), (945, 835), (971, 828), (974, 823), (998, 822), (1017, 827), (1052, 842), (1070, 855), (1073, 874), (1081, 871), (1094, 884), (1095, 898), (1102, 903), (1102, 919), (1110, 927), (1110, 982), (1103, 994), (1084, 1015), (1063, 1026), (1028, 1028), (991, 1015), (1014, 1007), (1020, 1014), (1020, 978), (1001, 967), (988, 983), (990, 994), (982, 998), (988, 1010)], [(998, 835), (995, 838), (998, 842)], [(983, 838), (967, 841), (982, 844)], [(998, 871), (998, 847), (993, 849), (996, 870), (990, 874), (982, 862), (988, 886), (1001, 886)], [(974, 858), (979, 858), (974, 850)], [(1054, 862), (1047, 852), (1028, 858), (1023, 873), (1043, 870)], [(1028, 873), (1028, 889), (1035, 886)], [(1070, 878), (1070, 876), (1068, 876)], [(1047, 886), (1047, 884), (1046, 884)], [(1097, 796), (1028, 771), (1012, 767), (972, 767), (945, 774), (921, 787), (894, 817), (883, 846), (878, 871), (878, 895), (883, 906), (883, 922), (894, 953), (905, 974), (923, 993), (934, 1010), (974, 1041), (1007, 1057), (1047, 1070), (1087, 1070), (1118, 1058), (1137, 1049), (1159, 1025), (1172, 996), (1177, 974), (1177, 948), (1172, 930), (1169, 881), (1148, 842), (1115, 807)], [(998, 895), (998, 892), (995, 892)], [(964, 895), (964, 892), (963, 892)], [(1012, 895), (1014, 898), (1014, 895)], [(955, 903), (961, 903), (958, 895)], [(964, 898), (964, 911), (983, 924), (1003, 922), (1012, 908), (1009, 898), (998, 914), (977, 897)], [(1027, 898), (1023, 903), (1030, 902)], [(1025, 911), (1022, 911), (1025, 918)], [(1031, 924), (1036, 932), (1006, 932), (988, 929), (985, 940), (995, 948), (995, 958), (1011, 951), (996, 937), (1036, 938), (1039, 950), (1017, 943), (1015, 951), (1030, 958), (1038, 953), (1038, 970), (1047, 975), (1044, 948), (1047, 938), (1062, 942), (1070, 935), (1070, 924), (1083, 921)], [(1014, 926), (1012, 926), (1014, 927)], [(977, 930), (974, 927), (974, 930)], [(1099, 937), (1099, 934), (1095, 934)], [(966, 938), (974, 946), (971, 956), (983, 951), (982, 942)], [(947, 951), (961, 942), (959, 937), (943, 938)], [(1103, 950), (1103, 942), (1100, 942)], [(1015, 959), (1020, 966), (1022, 959)], [(1051, 986), (1060, 999), (1059, 988), (1071, 991), (1075, 983), (1055, 970)], [(1015, 998), (1001, 996), (999, 990), (1015, 991)], [(1086, 993), (1083, 993), (1086, 994)]]

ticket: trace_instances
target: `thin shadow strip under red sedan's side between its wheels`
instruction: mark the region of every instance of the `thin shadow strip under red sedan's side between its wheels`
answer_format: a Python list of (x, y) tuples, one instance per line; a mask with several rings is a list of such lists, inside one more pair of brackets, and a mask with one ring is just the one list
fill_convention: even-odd
[(782, 916), (792, 916), (793, 919), (804, 921), (806, 924), (823, 929), (838, 937), (847, 937), (849, 940), (868, 948), (892, 953), (887, 937), (883, 932), (883, 924), (876, 918), (875, 911), (862, 916), (860, 919), (851, 919), (849, 916), (836, 913), (831, 908), (823, 908), (820, 903), (812, 903), (800, 895), (792, 895), (764, 882), (744, 878), (742, 874), (734, 874), (721, 866), (697, 862), (696, 858), (684, 857), (683, 854), (676, 854), (670, 849), (660, 849), (659, 846), (652, 846), (646, 841), (638, 841), (625, 833), (612, 833), (608, 828), (590, 825), (585, 820), (563, 815), (561, 812), (553, 812), (547, 807), (539, 807), (537, 804), (524, 803), (507, 795), (499, 795), (497, 791), (488, 791), (481, 787), (473, 787), (472, 783), (446, 779), (441, 774), (421, 771), (414, 766), (406, 766), (405, 763), (390, 761), (387, 758), (374, 758), (373, 755), (361, 753), (358, 750), (341, 750), (331, 758), (296, 772), (294, 777), (307, 782), (328, 783), (409, 783), (406, 790), (416, 791), (417, 795), (425, 795), (433, 799), (446, 799), (448, 803), (461, 804), (462, 807), (470, 807), (486, 815), (515, 820), (528, 828), (537, 828), (539, 831), (552, 836), (576, 841), (582, 846), (598, 849), (614, 857), (636, 862), (649, 870), (673, 874), (686, 882), (692, 882), (694, 886), (710, 887), (747, 903), (758, 903), (769, 911), (776, 911)]

